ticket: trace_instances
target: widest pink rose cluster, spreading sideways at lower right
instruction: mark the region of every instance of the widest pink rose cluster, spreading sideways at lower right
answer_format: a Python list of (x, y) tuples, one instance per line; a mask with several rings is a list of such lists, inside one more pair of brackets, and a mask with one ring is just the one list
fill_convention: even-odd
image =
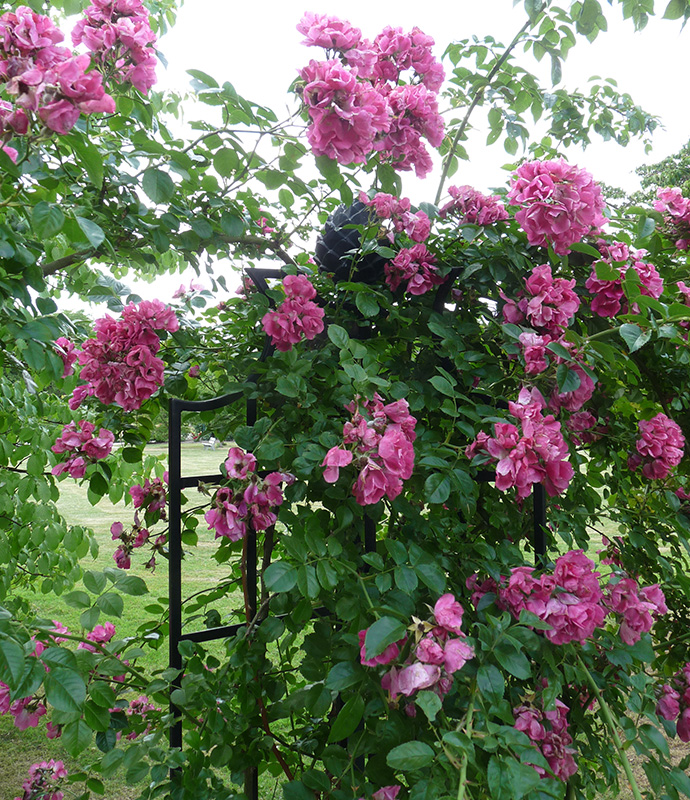
[(668, 611), (658, 584), (640, 588), (633, 578), (615, 574), (602, 590), (600, 573), (582, 550), (571, 550), (556, 559), (553, 573), (535, 575), (533, 567), (515, 567), (510, 577), (496, 583), (491, 578), (467, 580), (475, 606), (487, 592), (496, 595), (500, 608), (519, 619), (524, 609), (550, 625), (546, 638), (553, 644), (583, 643), (613, 613), (620, 623), (625, 644), (635, 644), (652, 629), (655, 619)]

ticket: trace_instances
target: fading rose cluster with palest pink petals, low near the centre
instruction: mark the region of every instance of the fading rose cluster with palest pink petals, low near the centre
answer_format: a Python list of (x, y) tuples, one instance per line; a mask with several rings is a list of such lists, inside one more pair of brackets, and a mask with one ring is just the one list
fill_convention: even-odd
[[(433, 620), (416, 620), (415, 641), (403, 666), (392, 666), (381, 678), (381, 686), (390, 693), (391, 702), (400, 695), (411, 697), (422, 689), (430, 689), (443, 698), (453, 685), (453, 675), (474, 658), (474, 648), (462, 631), (464, 610), (455, 597), (448, 593), (436, 601)], [(400, 656), (405, 640), (389, 645), (384, 652), (367, 659), (364, 640), (366, 631), (360, 631), (360, 661), (364, 666), (388, 665)], [(414, 715), (414, 706), (408, 706)]]

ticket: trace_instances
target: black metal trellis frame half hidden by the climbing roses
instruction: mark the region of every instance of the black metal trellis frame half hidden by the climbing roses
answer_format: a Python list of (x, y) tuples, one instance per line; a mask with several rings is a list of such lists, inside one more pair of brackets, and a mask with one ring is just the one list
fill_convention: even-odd
[[(246, 273), (257, 287), (266, 294), (267, 279), (281, 278), (282, 270), (247, 269)], [(263, 352), (258, 361), (264, 361), (273, 352), (273, 347), (266, 340)], [(256, 380), (256, 375), (250, 375), (248, 382)], [(257, 612), (257, 546), (256, 533), (249, 530), (245, 538), (245, 569), (246, 569), (246, 608), (244, 622), (233, 625), (223, 625), (200, 631), (182, 632), (182, 502), (183, 489), (192, 488), (199, 483), (217, 483), (223, 480), (221, 473), (214, 475), (182, 476), (182, 413), (215, 411), (237, 402), (244, 397), (244, 392), (233, 392), (222, 397), (210, 400), (181, 400), (171, 398), (169, 406), (169, 431), (168, 431), (168, 492), (169, 492), (169, 532), (168, 532), (168, 585), (169, 585), (169, 666), (179, 671), (179, 677), (173, 682), (173, 690), (181, 685), (181, 671), (183, 657), (180, 644), (184, 641), (208, 642), (217, 639), (226, 639), (234, 636), (240, 628), (249, 624)], [(255, 398), (246, 400), (246, 423), (254, 425), (257, 419), (257, 402)], [(486, 470), (481, 470), (477, 475), (479, 482), (491, 482), (495, 475)], [(535, 563), (543, 566), (546, 560), (546, 495), (541, 484), (535, 484), (532, 492), (533, 512), (533, 544)], [(366, 514), (364, 515), (363, 548), (365, 552), (376, 550), (376, 523)], [(313, 616), (323, 614), (323, 609), (315, 609)], [(175, 720), (170, 728), (170, 746), (182, 748), (182, 719), (180, 710), (175, 702), (170, 700), (170, 712)], [(245, 794), (249, 800), (259, 800), (258, 769), (250, 767), (245, 771)]]

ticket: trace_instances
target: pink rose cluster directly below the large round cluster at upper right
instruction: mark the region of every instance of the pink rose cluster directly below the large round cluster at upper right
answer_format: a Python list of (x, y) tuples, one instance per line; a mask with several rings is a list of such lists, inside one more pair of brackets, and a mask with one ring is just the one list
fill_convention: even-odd
[(534, 267), (525, 281), (525, 294), (518, 293), (517, 302), (508, 299), (503, 306), (506, 322), (520, 324), (525, 320), (550, 340), (562, 336), (580, 307), (580, 298), (573, 291), (575, 279), (554, 278), (548, 264)]

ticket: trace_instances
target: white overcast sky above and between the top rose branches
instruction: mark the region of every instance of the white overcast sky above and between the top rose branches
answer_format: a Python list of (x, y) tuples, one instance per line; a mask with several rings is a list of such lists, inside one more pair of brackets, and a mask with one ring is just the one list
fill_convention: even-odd
[[(622, 19), (618, 4), (613, 8), (605, 2), (602, 5), (609, 17), (609, 31), (593, 44), (579, 39), (564, 65), (563, 85), (584, 88), (592, 75), (615, 78), (621, 91), (662, 117), (666, 130), (656, 133), (651, 156), (644, 154), (641, 145), (621, 148), (609, 142), (588, 148), (586, 153), (570, 148), (568, 159), (598, 180), (634, 189), (638, 185), (635, 166), (677, 151), (690, 138), (686, 84), (690, 26), (681, 31), (678, 21), (652, 18), (644, 31), (636, 33), (632, 23)], [(663, 7), (664, 3), (657, 5)], [(186, 0), (177, 25), (160, 43), (169, 61), (168, 70), (160, 71), (160, 82), (181, 88), (189, 81), (186, 69), (202, 69), (220, 83), (230, 81), (241, 95), (272, 107), (281, 117), (287, 104), (294, 102), (286, 90), (297, 69), (310, 58), (323, 57), (319, 48), (304, 47), (302, 35), (295, 29), (305, 11), (340, 16), (369, 38), (385, 25), (405, 30), (416, 25), (434, 37), (439, 57), (449, 41), (473, 34), (490, 34), (507, 44), (525, 21), (522, 3), (514, 7), (512, 0), (400, 0), (385, 4), (376, 0)], [(520, 57), (534, 68), (531, 54)], [(485, 135), (473, 141), (471, 163), (463, 165), (454, 183), (487, 189), (506, 182), (508, 176), (501, 165), (510, 156), (501, 145), (484, 147)], [(432, 175), (426, 180), (428, 199), (433, 199), (437, 179), (438, 175)]]

